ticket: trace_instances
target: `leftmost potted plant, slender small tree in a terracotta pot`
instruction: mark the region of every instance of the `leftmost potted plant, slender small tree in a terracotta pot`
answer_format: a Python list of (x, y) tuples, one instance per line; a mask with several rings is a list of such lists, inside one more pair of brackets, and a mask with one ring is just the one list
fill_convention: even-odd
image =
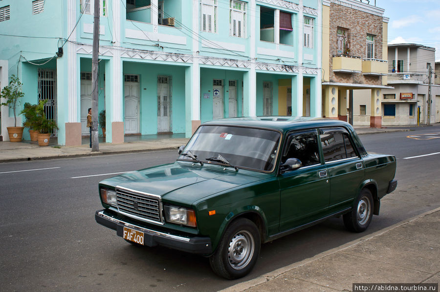
[(20, 105), (20, 100), (23, 96), (24, 93), (22, 92), (22, 83), (19, 81), (19, 78), (17, 76), (12, 75), (9, 85), (4, 86), (0, 94), (0, 98), (4, 98), (6, 100), (4, 103), (1, 103), (1, 105), (12, 107), (12, 110), (14, 112), (14, 126), (7, 127), (9, 141), (11, 142), (22, 141), (24, 127), (17, 126), (16, 107), (17, 105)]

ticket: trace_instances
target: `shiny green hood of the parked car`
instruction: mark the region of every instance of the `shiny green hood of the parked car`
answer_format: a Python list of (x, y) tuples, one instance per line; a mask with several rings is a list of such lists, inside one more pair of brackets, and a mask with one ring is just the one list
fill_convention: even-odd
[(130, 188), (135, 191), (159, 195), (162, 200), (191, 205), (206, 196), (241, 185), (250, 184), (268, 174), (204, 164), (186, 162), (130, 171), (101, 181), (100, 184)]

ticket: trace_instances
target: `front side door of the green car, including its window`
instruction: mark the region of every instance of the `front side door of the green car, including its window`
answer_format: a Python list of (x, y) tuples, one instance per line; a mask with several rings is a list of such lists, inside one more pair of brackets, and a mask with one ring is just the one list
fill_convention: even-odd
[(317, 130), (291, 133), (286, 138), (281, 164), (297, 158), (302, 167), (279, 174), (280, 231), (322, 217), (329, 206), (329, 176), (321, 163)]

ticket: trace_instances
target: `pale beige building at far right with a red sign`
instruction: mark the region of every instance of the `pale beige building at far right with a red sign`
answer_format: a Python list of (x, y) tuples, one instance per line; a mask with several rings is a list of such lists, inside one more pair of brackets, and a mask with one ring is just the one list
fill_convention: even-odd
[[(431, 65), (431, 105), (428, 117), (428, 67)], [(435, 48), (419, 44), (388, 45), (388, 85), (382, 90), (382, 125), (418, 125), (440, 122), (440, 82), (435, 77)], [(437, 74), (438, 75), (438, 74)], [(354, 115), (369, 102), (368, 92), (354, 92)], [(367, 106), (368, 107), (368, 106)], [(355, 118), (354, 125), (365, 125)], [(357, 120), (357, 121), (356, 121)]]

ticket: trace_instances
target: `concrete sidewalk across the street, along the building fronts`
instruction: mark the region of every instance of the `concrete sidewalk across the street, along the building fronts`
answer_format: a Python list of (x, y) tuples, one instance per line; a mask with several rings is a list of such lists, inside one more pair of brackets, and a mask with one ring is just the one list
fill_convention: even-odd
[[(396, 131), (409, 131), (407, 128), (363, 128), (356, 127), (356, 132), (362, 134), (387, 133)], [(188, 138), (157, 138), (145, 141), (128, 142), (123, 144), (100, 143), (99, 151), (92, 152), (88, 145), (81, 146), (38, 146), (37, 142), (0, 142), (0, 163), (28, 160), (44, 160), (55, 158), (72, 158), (82, 156), (95, 156), (119, 154), (130, 152), (145, 152), (157, 150), (177, 149), (185, 145)]]

